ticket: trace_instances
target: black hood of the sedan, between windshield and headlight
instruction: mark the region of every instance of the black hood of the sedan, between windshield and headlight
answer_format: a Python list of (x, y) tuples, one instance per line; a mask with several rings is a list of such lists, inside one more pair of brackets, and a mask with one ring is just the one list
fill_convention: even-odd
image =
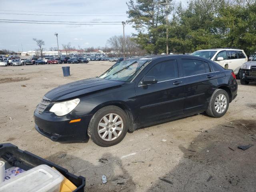
[(67, 100), (83, 94), (121, 86), (122, 84), (124, 84), (122, 81), (89, 78), (58, 86), (47, 92), (44, 97), (51, 101)]

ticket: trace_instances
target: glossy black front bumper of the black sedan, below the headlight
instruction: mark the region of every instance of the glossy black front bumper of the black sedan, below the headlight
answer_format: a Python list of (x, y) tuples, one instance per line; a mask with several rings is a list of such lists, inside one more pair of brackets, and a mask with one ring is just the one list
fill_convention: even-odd
[[(87, 128), (92, 116), (70, 118), (56, 116), (50, 112), (39, 114), (34, 112), (36, 130), (56, 142), (85, 142), (88, 141)], [(70, 120), (81, 118), (80, 122), (69, 123)]]

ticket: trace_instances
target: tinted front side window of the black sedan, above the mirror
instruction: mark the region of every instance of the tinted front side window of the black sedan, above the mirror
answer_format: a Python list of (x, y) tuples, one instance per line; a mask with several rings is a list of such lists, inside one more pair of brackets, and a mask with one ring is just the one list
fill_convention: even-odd
[(160, 62), (153, 66), (146, 76), (154, 76), (158, 82), (178, 78), (178, 64), (176, 60)]

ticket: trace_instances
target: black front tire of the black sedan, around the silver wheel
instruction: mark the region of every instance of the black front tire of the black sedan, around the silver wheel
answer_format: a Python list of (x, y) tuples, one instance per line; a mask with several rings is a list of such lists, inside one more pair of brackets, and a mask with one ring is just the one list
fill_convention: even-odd
[[(118, 119), (116, 121), (119, 123), (122, 121), (122, 124), (119, 124), (116, 126), (113, 125), (113, 127), (109, 123), (107, 124), (107, 122), (104, 121), (104, 118), (106, 118), (106, 120), (109, 120), (110, 114), (113, 115), (112, 116), (113, 120), (115, 120), (116, 115), (118, 115), (118, 117), (117, 117)], [(106, 127), (100, 126), (99, 125), (100, 123), (105, 125)], [(121, 128), (120, 128), (120, 126), (121, 126)], [(102, 133), (98, 133), (98, 129), (103, 130), (104, 128), (106, 131), (104, 131)], [(118, 130), (116, 128), (118, 128)], [(112, 130), (112, 132), (110, 132), (110, 130)], [(103, 107), (100, 110), (98, 110), (92, 116), (92, 119), (90, 120), (90, 123), (88, 126), (87, 133), (88, 133), (88, 136), (91, 138), (91, 140), (98, 146), (109, 147), (109, 146), (113, 146), (113, 145), (116, 145), (119, 142), (121, 142), (123, 140), (124, 136), (126, 135), (127, 131), (128, 131), (127, 114), (121, 108), (119, 108), (117, 106), (106, 106), (106, 107)], [(109, 132), (111, 133), (111, 140), (109, 140), (109, 136), (110, 136)], [(118, 135), (117, 137), (114, 135), (114, 132), (115, 132), (115, 134)], [(106, 134), (105, 138), (104, 138), (104, 134)]]

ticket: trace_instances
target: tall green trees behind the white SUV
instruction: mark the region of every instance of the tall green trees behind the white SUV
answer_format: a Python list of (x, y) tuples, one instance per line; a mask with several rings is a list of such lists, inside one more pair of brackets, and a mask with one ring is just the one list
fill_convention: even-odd
[[(190, 53), (200, 49), (236, 47), (256, 51), (255, 0), (190, 0), (186, 7), (172, 0), (129, 0), (134, 40), (150, 54)], [(166, 21), (166, 14), (169, 16)]]

